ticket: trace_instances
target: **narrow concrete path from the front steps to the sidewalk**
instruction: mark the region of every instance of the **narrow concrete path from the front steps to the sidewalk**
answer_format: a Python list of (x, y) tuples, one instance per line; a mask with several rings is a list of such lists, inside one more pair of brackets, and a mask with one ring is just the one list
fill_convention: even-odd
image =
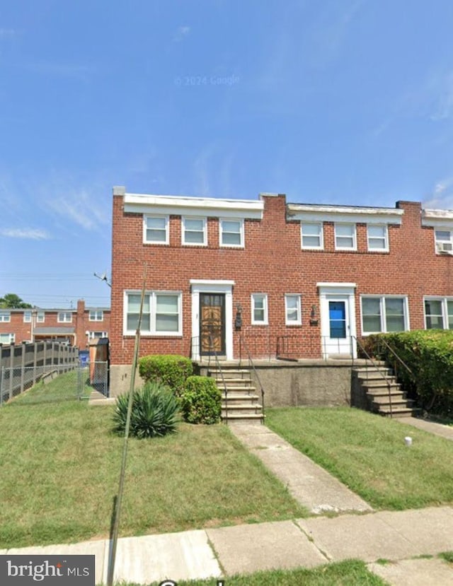
[(310, 512), (372, 511), (365, 500), (266, 426), (238, 423), (229, 428)]

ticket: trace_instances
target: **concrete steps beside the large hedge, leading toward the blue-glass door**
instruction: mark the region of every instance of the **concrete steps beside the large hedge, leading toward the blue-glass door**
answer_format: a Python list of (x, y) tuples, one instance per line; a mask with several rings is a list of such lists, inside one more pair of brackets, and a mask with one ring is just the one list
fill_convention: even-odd
[(386, 366), (362, 366), (352, 369), (362, 392), (366, 394), (368, 410), (383, 416), (412, 417), (420, 409), (406, 397), (396, 377)]

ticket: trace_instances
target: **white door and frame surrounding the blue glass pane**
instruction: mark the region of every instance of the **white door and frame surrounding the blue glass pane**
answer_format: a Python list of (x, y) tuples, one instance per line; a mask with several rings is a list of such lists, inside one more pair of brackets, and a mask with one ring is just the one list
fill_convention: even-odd
[(351, 354), (357, 358), (357, 347), (352, 343), (351, 336), (357, 336), (355, 325), (355, 283), (316, 283), (319, 290), (319, 307), (321, 315), (321, 351), (323, 358), (330, 354), (338, 354), (338, 348), (328, 348), (326, 341), (330, 338), (329, 301), (345, 301), (346, 308), (346, 335), (347, 341), (343, 343), (340, 353)]

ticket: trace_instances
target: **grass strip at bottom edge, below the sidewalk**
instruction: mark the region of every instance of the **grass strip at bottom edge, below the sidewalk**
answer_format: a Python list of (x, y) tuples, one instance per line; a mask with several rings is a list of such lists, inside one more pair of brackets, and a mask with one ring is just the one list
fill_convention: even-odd
[[(216, 586), (215, 578), (207, 580), (181, 580), (178, 586)], [(154, 582), (150, 586), (158, 586)], [(385, 586), (386, 582), (369, 572), (364, 562), (347, 560), (330, 563), (306, 570), (270, 570), (250, 575), (236, 575), (224, 578), (225, 586)], [(138, 586), (126, 582), (121, 586)]]

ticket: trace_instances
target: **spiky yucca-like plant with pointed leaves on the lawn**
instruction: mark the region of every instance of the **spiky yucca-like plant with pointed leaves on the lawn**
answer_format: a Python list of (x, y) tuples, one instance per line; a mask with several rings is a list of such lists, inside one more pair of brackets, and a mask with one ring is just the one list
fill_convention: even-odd
[[(129, 392), (116, 399), (113, 423), (118, 434), (125, 433), (128, 402)], [(130, 435), (143, 439), (173, 433), (179, 421), (178, 411), (178, 399), (168, 387), (160, 382), (147, 382), (132, 397)]]

